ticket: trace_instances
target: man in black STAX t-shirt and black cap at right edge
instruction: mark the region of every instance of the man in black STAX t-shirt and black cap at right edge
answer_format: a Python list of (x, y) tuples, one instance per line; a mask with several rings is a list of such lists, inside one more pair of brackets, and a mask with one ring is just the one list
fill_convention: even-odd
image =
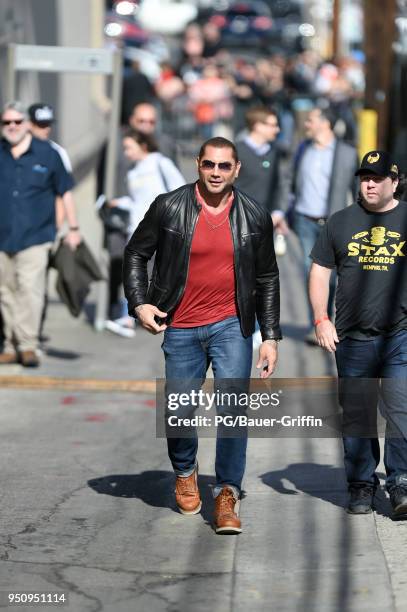
[[(356, 175), (360, 203), (332, 215), (311, 252), (315, 334), (320, 346), (335, 352), (341, 379), (348, 512), (372, 510), (380, 395), (386, 418), (386, 487), (394, 515), (407, 518), (407, 203), (395, 198), (399, 172), (388, 153), (367, 153)], [(327, 316), (334, 268), (335, 324)], [(355, 377), (362, 379), (357, 385)], [(381, 381), (380, 394), (379, 378), (391, 379)]]

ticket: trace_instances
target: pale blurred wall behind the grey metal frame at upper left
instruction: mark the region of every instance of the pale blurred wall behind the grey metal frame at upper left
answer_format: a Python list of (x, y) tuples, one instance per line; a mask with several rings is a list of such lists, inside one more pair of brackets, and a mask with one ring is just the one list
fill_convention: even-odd
[[(103, 0), (1, 0), (0, 83), (7, 76), (9, 43), (68, 47), (103, 46)], [(55, 108), (53, 138), (68, 149), (74, 166), (95, 155), (106, 133), (105, 78), (79, 74), (18, 75), (17, 97)], [(5, 101), (5, 87), (0, 89)]]

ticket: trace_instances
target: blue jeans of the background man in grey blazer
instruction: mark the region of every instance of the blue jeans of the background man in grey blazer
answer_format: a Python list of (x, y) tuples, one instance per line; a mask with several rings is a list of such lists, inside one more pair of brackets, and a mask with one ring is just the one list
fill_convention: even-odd
[[(293, 230), (298, 236), (298, 240), (300, 241), (301, 250), (303, 254), (303, 264), (304, 264), (304, 282), (305, 282), (305, 292), (308, 296), (308, 277), (311, 269), (312, 260), (310, 257), (310, 253), (314, 244), (317, 241), (317, 238), (322, 230), (322, 225), (319, 225), (316, 221), (312, 221), (305, 215), (301, 213), (295, 212), (293, 214), (293, 222), (292, 222)], [(336, 275), (331, 274), (331, 278), (329, 280), (329, 299), (328, 299), (328, 315), (332, 318), (334, 311), (334, 299), (335, 299), (335, 279)], [(307, 298), (308, 299), (308, 298)], [(311, 304), (308, 300), (308, 317), (310, 322), (310, 327), (314, 327), (314, 315), (312, 312)]]

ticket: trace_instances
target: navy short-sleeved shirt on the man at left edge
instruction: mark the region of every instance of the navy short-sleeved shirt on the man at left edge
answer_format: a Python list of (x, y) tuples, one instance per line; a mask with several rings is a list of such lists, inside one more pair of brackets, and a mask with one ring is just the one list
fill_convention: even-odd
[(0, 141), (0, 251), (17, 253), (55, 238), (55, 197), (73, 187), (56, 150), (32, 138), (18, 159)]

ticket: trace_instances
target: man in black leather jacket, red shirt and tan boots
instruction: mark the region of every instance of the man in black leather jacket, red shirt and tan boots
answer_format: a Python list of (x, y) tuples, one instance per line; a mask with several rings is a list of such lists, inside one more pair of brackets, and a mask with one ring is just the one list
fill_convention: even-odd
[[(129, 314), (151, 333), (164, 332), (167, 398), (174, 380), (190, 393), (199, 389), (210, 363), (215, 387), (234, 379), (245, 381), (240, 388), (247, 390), (255, 316), (263, 338), (257, 362), (261, 378), (273, 373), (281, 339), (270, 215), (233, 188), (240, 162), (232, 142), (206, 141), (197, 167), (197, 183), (156, 198), (125, 250)], [(147, 262), (154, 254), (148, 286)], [(176, 502), (183, 514), (196, 514), (201, 509), (196, 432), (191, 428), (180, 438), (168, 435), (168, 429)], [(218, 427), (215, 530), (240, 533), (247, 432), (226, 437), (222, 431)]]

